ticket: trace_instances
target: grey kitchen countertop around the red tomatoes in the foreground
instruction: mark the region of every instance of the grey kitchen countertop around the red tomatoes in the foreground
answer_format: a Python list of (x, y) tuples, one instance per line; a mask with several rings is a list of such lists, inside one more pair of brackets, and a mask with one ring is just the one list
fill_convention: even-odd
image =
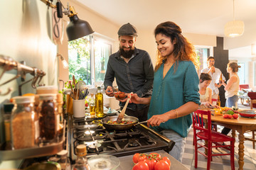
[[(170, 154), (165, 152), (164, 150), (155, 151), (156, 153), (161, 154), (162, 157), (168, 157), (171, 161), (171, 170), (188, 170), (186, 166), (178, 162), (174, 157), (171, 157)], [(151, 152), (146, 152), (149, 154)], [(117, 167), (117, 170), (127, 170), (132, 169), (134, 166), (134, 162), (132, 162), (133, 155), (125, 156), (125, 157), (118, 157), (120, 159), (120, 165)]]

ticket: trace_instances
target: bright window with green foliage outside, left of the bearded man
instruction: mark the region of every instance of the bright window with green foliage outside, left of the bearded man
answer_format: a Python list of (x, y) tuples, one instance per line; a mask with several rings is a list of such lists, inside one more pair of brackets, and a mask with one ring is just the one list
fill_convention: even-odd
[(96, 35), (68, 42), (69, 79), (82, 79), (87, 85), (102, 84), (112, 42)]

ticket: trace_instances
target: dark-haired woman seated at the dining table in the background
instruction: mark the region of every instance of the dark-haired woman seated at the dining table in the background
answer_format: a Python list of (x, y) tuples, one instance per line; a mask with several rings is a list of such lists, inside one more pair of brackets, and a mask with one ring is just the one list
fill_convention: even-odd
[(212, 90), (208, 88), (208, 86), (210, 85), (210, 81), (212, 81), (210, 74), (201, 73), (200, 79), (199, 79), (199, 94), (200, 94), (201, 106), (203, 107), (206, 106), (206, 108), (210, 107), (212, 104), (212, 101), (211, 101)]

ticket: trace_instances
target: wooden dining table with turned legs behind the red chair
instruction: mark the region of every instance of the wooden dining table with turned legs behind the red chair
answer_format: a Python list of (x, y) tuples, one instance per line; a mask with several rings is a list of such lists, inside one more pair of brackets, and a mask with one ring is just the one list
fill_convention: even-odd
[[(207, 108), (201, 109), (201, 110), (210, 110)], [(239, 115), (238, 119), (228, 119), (228, 118), (223, 118), (223, 115), (216, 115), (213, 110), (211, 111), (211, 121), (212, 124), (215, 125), (221, 125), (226, 128), (230, 128), (232, 130), (231, 135), (232, 137), (235, 138), (235, 131), (238, 132), (238, 164), (239, 164), (239, 169), (243, 169), (244, 163), (244, 151), (245, 151), (245, 135), (244, 133), (247, 132), (248, 130), (256, 130), (256, 117), (252, 118), (245, 118)], [(207, 115), (203, 116), (204, 121), (207, 123), (208, 117)]]

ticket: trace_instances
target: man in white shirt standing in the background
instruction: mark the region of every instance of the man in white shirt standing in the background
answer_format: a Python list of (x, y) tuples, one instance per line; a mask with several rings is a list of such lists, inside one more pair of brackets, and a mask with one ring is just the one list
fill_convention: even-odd
[(212, 77), (212, 81), (210, 82), (209, 88), (212, 90), (212, 99), (214, 99), (213, 105), (216, 105), (216, 101), (219, 95), (219, 87), (221, 84), (219, 83), (220, 75), (222, 75), (223, 81), (225, 81), (225, 77), (223, 76), (220, 69), (214, 67), (215, 59), (214, 57), (208, 57), (207, 59), (207, 68), (202, 69), (201, 73), (208, 73), (210, 77)]

